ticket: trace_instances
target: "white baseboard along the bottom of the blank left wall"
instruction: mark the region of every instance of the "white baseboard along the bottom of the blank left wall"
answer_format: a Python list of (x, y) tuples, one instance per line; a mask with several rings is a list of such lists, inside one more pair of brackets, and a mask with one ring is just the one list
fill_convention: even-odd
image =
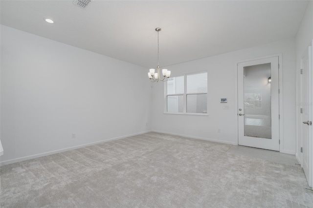
[(29, 159), (33, 159), (33, 158), (43, 157), (43, 156), (46, 156), (46, 155), (52, 155), (52, 154), (56, 154), (56, 153), (60, 153), (60, 152), (65, 152), (65, 151), (69, 151), (69, 150), (72, 150), (72, 149), (81, 148), (81, 147), (84, 147), (84, 146), (96, 145), (96, 144), (103, 143), (103, 142), (109, 142), (109, 141), (112, 141), (112, 140), (117, 140), (117, 139), (122, 139), (122, 138), (126, 138), (126, 137), (136, 136), (136, 135), (139, 135), (139, 134), (144, 134), (144, 133), (149, 133), (149, 132), (151, 132), (151, 130), (143, 131), (143, 132), (139, 132), (139, 133), (135, 133), (135, 134), (124, 135), (124, 136), (120, 136), (120, 137), (114, 137), (114, 138), (110, 138), (110, 139), (105, 139), (105, 140), (101, 140), (101, 141), (98, 141), (98, 142), (92, 142), (92, 143), (88, 143), (88, 144), (84, 144), (84, 145), (71, 146), (71, 147), (67, 147), (67, 148), (64, 148), (64, 149), (58, 149), (58, 150), (53, 150), (53, 151), (44, 152), (44, 153), (40, 153), (40, 154), (20, 157), (20, 158), (6, 160), (6, 161), (1, 161), (0, 162), (0, 166), (8, 165), (8, 164), (11, 164), (11, 163), (17, 163), (17, 162), (21, 162), (21, 161), (29, 160)]

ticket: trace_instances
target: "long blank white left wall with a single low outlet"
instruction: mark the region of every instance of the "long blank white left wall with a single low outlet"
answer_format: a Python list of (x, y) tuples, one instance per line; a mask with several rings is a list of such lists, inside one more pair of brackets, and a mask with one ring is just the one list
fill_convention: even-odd
[(1, 164), (148, 131), (145, 70), (1, 25)]

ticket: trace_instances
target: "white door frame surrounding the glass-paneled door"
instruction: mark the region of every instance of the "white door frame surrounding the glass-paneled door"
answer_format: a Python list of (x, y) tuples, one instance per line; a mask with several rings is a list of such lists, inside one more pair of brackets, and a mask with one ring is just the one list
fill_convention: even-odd
[(237, 61), (237, 67), (236, 67), (236, 80), (235, 80), (235, 94), (236, 94), (236, 98), (235, 98), (235, 104), (236, 104), (236, 108), (234, 109), (234, 115), (235, 115), (235, 124), (237, 126), (236, 128), (236, 134), (237, 134), (237, 142), (236, 144), (239, 144), (239, 135), (238, 135), (238, 127), (239, 127), (239, 123), (238, 123), (238, 64), (241, 62), (250, 62), (250, 61), (256, 61), (259, 59), (267, 59), (267, 58), (272, 58), (272, 57), (278, 57), (278, 63), (279, 63), (279, 73), (278, 73), (278, 82), (279, 82), (279, 89), (280, 89), (280, 93), (279, 93), (279, 115), (280, 115), (280, 119), (279, 119), (279, 140), (280, 140), (280, 144), (279, 144), (279, 151), (283, 152), (283, 153), (287, 153), (287, 154), (294, 154), (294, 152), (291, 151), (286, 151), (284, 150), (284, 132), (283, 132), (283, 126), (284, 126), (284, 114), (283, 114), (283, 54), (279, 53), (279, 54), (272, 54), (272, 55), (268, 55), (268, 56), (262, 56), (262, 57), (256, 57), (256, 58), (251, 58), (251, 59), (246, 59), (246, 60), (242, 60), (242, 61)]

